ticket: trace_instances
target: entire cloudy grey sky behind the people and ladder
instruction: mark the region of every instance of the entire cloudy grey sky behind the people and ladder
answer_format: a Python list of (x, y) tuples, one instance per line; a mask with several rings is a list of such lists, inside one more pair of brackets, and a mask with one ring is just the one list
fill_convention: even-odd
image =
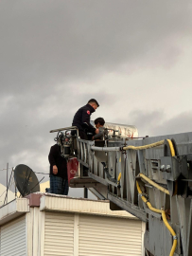
[(191, 71), (191, 1), (2, 0), (0, 169), (48, 173), (49, 131), (91, 98), (140, 136), (191, 131)]

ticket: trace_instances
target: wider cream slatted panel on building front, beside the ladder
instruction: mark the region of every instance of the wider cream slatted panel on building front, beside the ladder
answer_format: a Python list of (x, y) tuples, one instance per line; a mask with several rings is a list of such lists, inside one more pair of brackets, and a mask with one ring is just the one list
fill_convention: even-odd
[(80, 215), (79, 256), (141, 256), (141, 222)]

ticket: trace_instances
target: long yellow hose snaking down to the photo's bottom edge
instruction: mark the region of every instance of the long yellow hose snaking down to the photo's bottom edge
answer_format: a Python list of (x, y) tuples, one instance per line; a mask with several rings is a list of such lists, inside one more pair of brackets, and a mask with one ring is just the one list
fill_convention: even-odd
[(155, 211), (157, 213), (161, 213), (162, 214), (162, 219), (163, 219), (163, 221), (164, 221), (164, 223), (166, 225), (166, 228), (170, 231), (170, 233), (172, 234), (173, 239), (174, 239), (173, 246), (172, 246), (170, 254), (169, 254), (169, 256), (173, 256), (174, 251), (175, 251), (175, 249), (177, 247), (177, 236), (176, 236), (175, 231), (170, 227), (170, 225), (168, 224), (168, 222), (166, 220), (166, 212), (165, 212), (165, 210), (159, 210), (159, 209), (153, 208), (151, 206), (151, 204), (148, 202), (148, 199), (142, 194), (142, 191), (141, 191), (141, 189), (139, 187), (138, 181), (136, 181), (136, 187), (137, 187), (137, 191), (138, 191), (139, 195), (141, 195), (141, 199), (143, 200), (144, 203), (146, 203), (148, 205), (149, 210), (152, 210), (152, 211)]

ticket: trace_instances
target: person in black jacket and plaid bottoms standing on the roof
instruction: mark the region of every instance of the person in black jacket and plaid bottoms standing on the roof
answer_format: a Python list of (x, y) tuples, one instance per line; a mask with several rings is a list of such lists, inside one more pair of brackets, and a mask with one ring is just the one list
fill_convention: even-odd
[(50, 163), (50, 192), (67, 195), (69, 192), (67, 179), (67, 162), (60, 154), (60, 146), (51, 147), (48, 160)]

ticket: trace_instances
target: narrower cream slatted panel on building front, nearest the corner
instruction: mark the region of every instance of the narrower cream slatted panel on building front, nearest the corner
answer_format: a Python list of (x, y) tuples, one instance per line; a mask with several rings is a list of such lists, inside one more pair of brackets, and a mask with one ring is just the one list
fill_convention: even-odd
[(74, 256), (74, 214), (45, 212), (44, 256)]

